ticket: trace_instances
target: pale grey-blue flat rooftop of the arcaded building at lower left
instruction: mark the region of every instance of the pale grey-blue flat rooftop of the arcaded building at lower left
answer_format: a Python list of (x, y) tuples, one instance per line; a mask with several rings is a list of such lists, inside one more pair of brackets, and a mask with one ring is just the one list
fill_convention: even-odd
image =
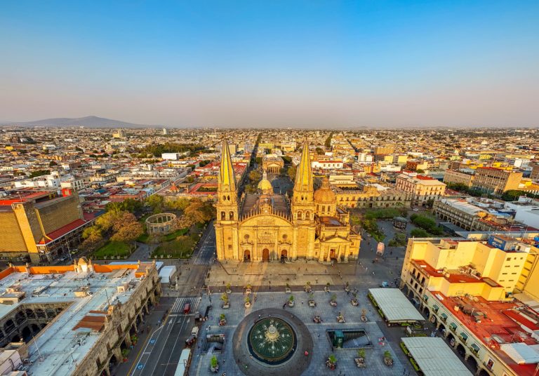
[[(83, 259), (84, 260), (84, 259)], [(79, 261), (86, 265), (86, 261)], [(77, 272), (74, 265), (10, 267), (0, 273), (0, 290), (15, 287), (25, 293), (20, 302), (0, 304), (0, 317), (24, 304), (61, 304), (64, 309), (29, 344), (33, 375), (70, 375), (98, 341), (109, 304), (125, 303), (152, 263), (100, 265)], [(29, 271), (29, 273), (27, 272)], [(128, 286), (119, 292), (118, 286)], [(87, 293), (80, 294), (86, 291)], [(76, 294), (76, 292), (79, 292)], [(84, 296), (86, 295), (86, 296)], [(89, 325), (93, 323), (93, 325)]]

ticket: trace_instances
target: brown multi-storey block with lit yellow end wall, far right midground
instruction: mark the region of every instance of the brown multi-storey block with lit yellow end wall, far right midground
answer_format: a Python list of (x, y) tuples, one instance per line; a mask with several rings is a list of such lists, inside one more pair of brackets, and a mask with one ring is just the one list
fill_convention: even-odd
[(519, 189), (522, 173), (493, 167), (477, 168), (472, 188), (485, 193), (503, 194), (510, 189)]

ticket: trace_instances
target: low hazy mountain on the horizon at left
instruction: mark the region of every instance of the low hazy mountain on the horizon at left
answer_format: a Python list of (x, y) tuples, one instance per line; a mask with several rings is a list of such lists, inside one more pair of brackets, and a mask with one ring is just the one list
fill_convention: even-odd
[(19, 121), (11, 122), (4, 121), (1, 122), (2, 126), (49, 126), (49, 127), (69, 127), (69, 126), (85, 126), (88, 128), (146, 128), (154, 127), (147, 124), (135, 124), (127, 123), (126, 121), (119, 121), (113, 119), (100, 118), (98, 116), (84, 116), (81, 118), (55, 118), (55, 119), (44, 119), (36, 121)]

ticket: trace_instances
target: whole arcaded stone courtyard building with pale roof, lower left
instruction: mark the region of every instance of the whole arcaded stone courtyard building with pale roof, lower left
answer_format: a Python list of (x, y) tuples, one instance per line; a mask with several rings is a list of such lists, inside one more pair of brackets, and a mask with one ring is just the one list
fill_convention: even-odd
[[(155, 262), (9, 267), (0, 272), (0, 368), (28, 375), (110, 375), (161, 285)], [(8, 361), (7, 358), (11, 358)], [(13, 361), (15, 360), (15, 361)]]

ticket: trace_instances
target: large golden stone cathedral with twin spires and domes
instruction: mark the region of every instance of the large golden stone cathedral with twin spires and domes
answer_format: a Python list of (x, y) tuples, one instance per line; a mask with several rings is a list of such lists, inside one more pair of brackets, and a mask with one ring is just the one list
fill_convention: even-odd
[(314, 190), (307, 140), (295, 175), (293, 197), (275, 194), (264, 171), (256, 194), (238, 197), (227, 142), (218, 177), (215, 238), (218, 260), (244, 262), (348, 262), (357, 259), (361, 237), (337, 206), (327, 177)]

